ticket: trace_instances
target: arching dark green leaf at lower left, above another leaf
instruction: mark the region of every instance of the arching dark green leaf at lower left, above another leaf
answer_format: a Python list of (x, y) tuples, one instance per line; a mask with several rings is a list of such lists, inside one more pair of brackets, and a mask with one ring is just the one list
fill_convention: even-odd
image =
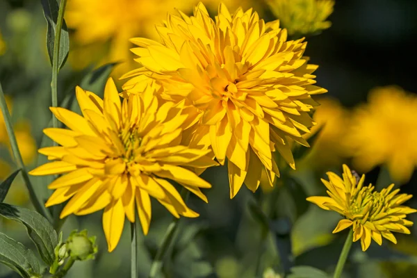
[(46, 218), (36, 211), (10, 204), (0, 204), (0, 215), (24, 224), (42, 260), (47, 265), (54, 263), (54, 248), (58, 244), (58, 236)]

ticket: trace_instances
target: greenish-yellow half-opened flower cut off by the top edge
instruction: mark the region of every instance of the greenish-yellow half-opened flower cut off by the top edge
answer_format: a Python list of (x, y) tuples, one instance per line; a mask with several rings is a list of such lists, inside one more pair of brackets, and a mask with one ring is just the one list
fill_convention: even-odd
[(289, 35), (307, 35), (329, 28), (334, 0), (267, 0)]

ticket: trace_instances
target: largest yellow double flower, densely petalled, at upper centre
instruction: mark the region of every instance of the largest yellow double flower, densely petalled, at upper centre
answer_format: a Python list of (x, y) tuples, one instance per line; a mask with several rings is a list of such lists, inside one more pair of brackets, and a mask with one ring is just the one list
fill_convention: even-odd
[(143, 67), (124, 76), (133, 77), (124, 90), (136, 93), (153, 79), (162, 86), (158, 97), (186, 99), (200, 117), (190, 142), (211, 145), (221, 164), (228, 158), (230, 197), (243, 182), (256, 190), (263, 167), (272, 185), (275, 151), (295, 167), (289, 142), (308, 146), (311, 95), (327, 92), (313, 85), (317, 66), (302, 56), (306, 43), (287, 41), (278, 21), (265, 24), (252, 9), (231, 15), (222, 4), (215, 21), (199, 3), (194, 16), (168, 15), (156, 28), (162, 43), (131, 40)]

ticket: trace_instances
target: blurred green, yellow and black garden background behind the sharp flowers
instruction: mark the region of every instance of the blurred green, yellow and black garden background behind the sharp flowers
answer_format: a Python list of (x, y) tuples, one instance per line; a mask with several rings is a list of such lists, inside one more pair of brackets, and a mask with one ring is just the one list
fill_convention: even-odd
[[(217, 14), (218, 1), (203, 2), (211, 15)], [(278, 2), (291, 6), (286, 10)], [(302, 17), (288, 17), (295, 2), (302, 2), (293, 11), (303, 13)], [(340, 217), (307, 204), (305, 198), (325, 194), (320, 178), (327, 171), (340, 173), (342, 163), (359, 174), (367, 174), (366, 182), (375, 183), (377, 188), (395, 182), (404, 193), (416, 195), (417, 79), (413, 65), (417, 2), (336, 0), (333, 13), (332, 9), (320, 10), (308, 2), (315, 1), (224, 1), (231, 12), (238, 6), (253, 7), (265, 22), (281, 19), (290, 38), (306, 35), (305, 55), (310, 57), (310, 63), (319, 65), (316, 80), (329, 92), (317, 98), (321, 106), (313, 116), (318, 122), (314, 131), (317, 134), (311, 136), (313, 147), (296, 147), (297, 170), (286, 170), (274, 189), (263, 186), (252, 194), (243, 188), (230, 200), (226, 167), (211, 168), (202, 174), (213, 184), (211, 190), (206, 190), (210, 203), (189, 199), (190, 207), (201, 216), (181, 219), (170, 263), (163, 269), (165, 277), (284, 277), (282, 274), (293, 265), (311, 265), (332, 272), (346, 236), (332, 234)], [(70, 30), (70, 55), (58, 76), (59, 103), (76, 110), (70, 102), (75, 85), (102, 94), (109, 74), (117, 79), (138, 67), (129, 52), (129, 38), (156, 39), (154, 25), (164, 20), (167, 12), (174, 13), (178, 8), (191, 14), (196, 3), (68, 0), (65, 20)], [(300, 24), (306, 19), (309, 22)], [(325, 24), (316, 26), (317, 21)], [(315, 27), (306, 29), (300, 25)], [(28, 169), (45, 161), (36, 150), (49, 143), (42, 136), (42, 129), (51, 120), (46, 32), (40, 1), (0, 0), (0, 82)], [(0, 181), (15, 169), (0, 115)], [(47, 179), (33, 179), (33, 183), (38, 195), (47, 199), (51, 193)], [(31, 207), (21, 177), (14, 181), (5, 202)], [(255, 205), (259, 202), (262, 211)], [(416, 198), (408, 205), (417, 208)], [(140, 277), (147, 277), (172, 220), (159, 204), (153, 204), (152, 209), (149, 234), (140, 238)], [(411, 215), (410, 220), (416, 218)], [(0, 229), (31, 246), (26, 231), (17, 223), (0, 219)], [(106, 251), (101, 212), (70, 216), (63, 226), (64, 237), (73, 229), (88, 229), (89, 235), (97, 236), (99, 254), (95, 261), (77, 262), (67, 277), (129, 277), (128, 225), (111, 254)], [(384, 240), (382, 247), (372, 243), (367, 252), (354, 244), (346, 277), (370, 277), (370, 273), (382, 278), (417, 277), (416, 229), (411, 229), (411, 235), (400, 234), (397, 238), (397, 245)], [(0, 277), (17, 275), (0, 265)]]

